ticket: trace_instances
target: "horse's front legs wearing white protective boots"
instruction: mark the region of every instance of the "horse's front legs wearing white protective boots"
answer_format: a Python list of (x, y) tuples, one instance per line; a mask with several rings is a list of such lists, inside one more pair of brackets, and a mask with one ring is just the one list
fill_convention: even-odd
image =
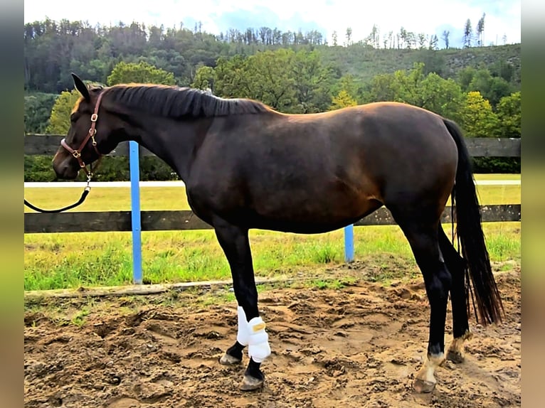
[(265, 380), (260, 365), (270, 355), (270, 345), (265, 322), (258, 311), (258, 290), (255, 287), (248, 230), (224, 220), (215, 220), (213, 226), (231, 267), (233, 289), (238, 302), (237, 340), (221, 357), (220, 363), (225, 365), (240, 363), (243, 350), (248, 345), (250, 362), (240, 389), (257, 390)]

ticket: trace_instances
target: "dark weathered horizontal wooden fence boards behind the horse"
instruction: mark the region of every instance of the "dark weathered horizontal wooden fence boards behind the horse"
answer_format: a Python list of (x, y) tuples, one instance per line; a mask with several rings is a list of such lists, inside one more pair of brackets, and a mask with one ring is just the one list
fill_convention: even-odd
[[(28, 135), (24, 138), (24, 153), (27, 155), (53, 156), (63, 136)], [(470, 154), (475, 157), (520, 157), (520, 139), (467, 138)], [(112, 151), (110, 156), (127, 156), (128, 143)], [(153, 156), (140, 147), (141, 156)], [(40, 205), (36, 203), (36, 205)], [(484, 205), (484, 222), (520, 221), (521, 205)], [(450, 222), (450, 207), (445, 208), (443, 222)], [(65, 212), (55, 214), (25, 213), (25, 233), (47, 232), (99, 232), (131, 231), (130, 211)], [(189, 210), (142, 211), (142, 231), (152, 230), (202, 230), (211, 228)], [(354, 225), (393, 225), (395, 222), (386, 208), (355, 222)]]

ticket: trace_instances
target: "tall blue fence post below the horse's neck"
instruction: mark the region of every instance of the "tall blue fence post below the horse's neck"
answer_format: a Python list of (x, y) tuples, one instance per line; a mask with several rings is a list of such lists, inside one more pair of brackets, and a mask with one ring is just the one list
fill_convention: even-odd
[(140, 227), (140, 163), (138, 144), (129, 141), (129, 164), (131, 173), (131, 220), (132, 220), (132, 280), (142, 284), (142, 237)]

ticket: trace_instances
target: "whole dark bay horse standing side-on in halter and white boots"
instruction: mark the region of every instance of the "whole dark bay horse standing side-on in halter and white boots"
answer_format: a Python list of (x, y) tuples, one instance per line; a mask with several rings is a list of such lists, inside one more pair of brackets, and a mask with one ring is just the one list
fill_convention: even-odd
[[(477, 321), (501, 321), (470, 156), (455, 122), (403, 103), (282, 114), (261, 102), (188, 87), (87, 87), (73, 79), (81, 97), (53, 158), (55, 173), (74, 179), (127, 140), (176, 171), (191, 210), (214, 228), (231, 269), (238, 331), (220, 363), (241, 363), (248, 346), (241, 390), (263, 386), (260, 365), (271, 354), (258, 311), (250, 228), (329, 232), (388, 208), (411, 246), (430, 304), (428, 353), (416, 372), (416, 392), (433, 390), (445, 359), (464, 360), (470, 298)], [(461, 255), (440, 223), (449, 196)], [(445, 356), (449, 293), (453, 341)]]

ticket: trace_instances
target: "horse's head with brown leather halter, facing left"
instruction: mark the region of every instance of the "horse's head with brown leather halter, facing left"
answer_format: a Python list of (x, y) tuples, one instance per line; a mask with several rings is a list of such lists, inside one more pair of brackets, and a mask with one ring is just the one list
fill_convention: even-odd
[(107, 141), (111, 129), (106, 118), (98, 119), (102, 101), (102, 87), (87, 87), (78, 75), (72, 74), (76, 89), (81, 97), (70, 114), (70, 129), (65, 139), (60, 142), (55, 157), (53, 170), (58, 178), (73, 180), (83, 168), (90, 176), (87, 165), (112, 151), (115, 147)]

